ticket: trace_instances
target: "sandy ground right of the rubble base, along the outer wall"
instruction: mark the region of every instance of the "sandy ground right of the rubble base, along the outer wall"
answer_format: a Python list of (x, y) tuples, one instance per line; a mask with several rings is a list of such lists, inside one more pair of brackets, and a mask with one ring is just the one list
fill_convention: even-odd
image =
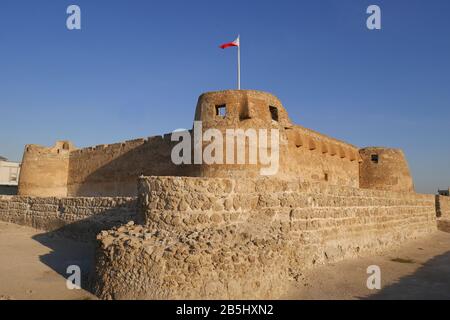
[[(381, 271), (381, 289), (367, 288), (367, 268)], [(305, 272), (290, 299), (450, 299), (450, 233), (437, 231), (383, 255)]]

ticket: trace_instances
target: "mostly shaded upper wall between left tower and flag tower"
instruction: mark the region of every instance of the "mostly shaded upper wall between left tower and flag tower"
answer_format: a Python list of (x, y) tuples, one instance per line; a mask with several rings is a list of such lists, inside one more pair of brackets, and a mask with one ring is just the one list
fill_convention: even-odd
[(69, 161), (69, 196), (136, 196), (136, 180), (146, 176), (195, 176), (194, 165), (171, 160), (170, 135), (76, 150)]

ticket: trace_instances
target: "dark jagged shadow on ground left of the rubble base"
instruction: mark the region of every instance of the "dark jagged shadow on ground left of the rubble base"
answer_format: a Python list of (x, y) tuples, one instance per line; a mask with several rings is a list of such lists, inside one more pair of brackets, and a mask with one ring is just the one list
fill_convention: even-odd
[(69, 266), (79, 266), (81, 287), (92, 293), (97, 234), (136, 219), (136, 215), (119, 215), (113, 208), (53, 231), (40, 233), (33, 236), (33, 240), (51, 249), (50, 253), (40, 256), (39, 259), (62, 277), (70, 276), (67, 273)]

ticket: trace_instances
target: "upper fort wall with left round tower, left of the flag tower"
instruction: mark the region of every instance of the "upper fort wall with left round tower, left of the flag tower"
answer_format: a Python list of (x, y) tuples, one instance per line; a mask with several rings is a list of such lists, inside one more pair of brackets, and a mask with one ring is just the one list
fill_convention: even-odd
[(37, 197), (135, 197), (140, 175), (198, 175), (197, 166), (171, 161), (170, 135), (76, 149), (27, 145), (19, 195)]

